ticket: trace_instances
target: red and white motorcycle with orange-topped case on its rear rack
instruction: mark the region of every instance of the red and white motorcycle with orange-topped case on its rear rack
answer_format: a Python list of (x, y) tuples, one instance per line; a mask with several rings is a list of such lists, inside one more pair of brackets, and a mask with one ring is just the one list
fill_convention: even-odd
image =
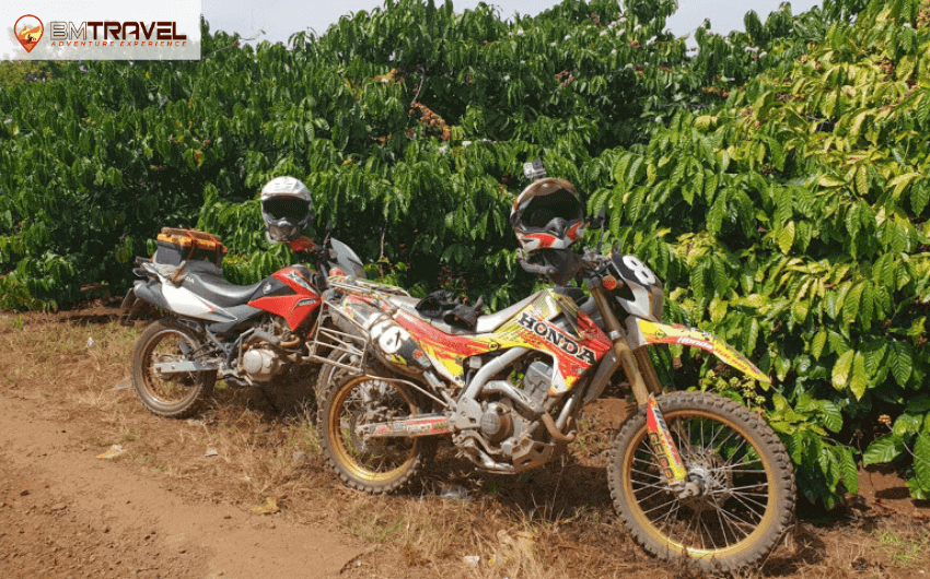
[(194, 229), (163, 229), (152, 259), (137, 258), (137, 281), (124, 309), (149, 305), (167, 317), (144, 329), (132, 353), (132, 387), (159, 416), (187, 417), (208, 399), (218, 379), (270, 387), (309, 363), (307, 344), (324, 340), (317, 328), (321, 294), (330, 273), (364, 277), (359, 257), (337, 239), (322, 247), (291, 243), (317, 267), (283, 268), (253, 285), (233, 285), (219, 269), (225, 248)]

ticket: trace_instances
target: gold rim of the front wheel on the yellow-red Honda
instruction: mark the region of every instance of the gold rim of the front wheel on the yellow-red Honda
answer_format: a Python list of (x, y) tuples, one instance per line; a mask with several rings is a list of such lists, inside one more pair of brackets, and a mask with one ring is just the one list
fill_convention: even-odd
[[(752, 548), (759, 537), (765, 533), (766, 529), (774, 522), (776, 512), (777, 512), (777, 503), (778, 503), (778, 483), (775, 475), (775, 470), (772, 468), (771, 462), (765, 456), (764, 452), (760, 451), (755, 445), (752, 445), (751, 438), (746, 435), (746, 430), (735, 424), (733, 421), (724, 418), (723, 416), (719, 416), (717, 414), (711, 414), (708, 412), (699, 411), (699, 410), (686, 410), (686, 411), (670, 411), (664, 413), (665, 422), (669, 424), (670, 429), (672, 425), (675, 423), (676, 418), (708, 418), (712, 423), (719, 423), (724, 425), (725, 428), (730, 428), (733, 433), (742, 437), (742, 439), (748, 444), (755, 454), (758, 457), (758, 462), (762, 464), (762, 470), (765, 473), (766, 482), (766, 500), (765, 500), (765, 512), (760, 517), (757, 523), (755, 523), (755, 529), (753, 532), (748, 533), (746, 536), (741, 539), (739, 542), (724, 546), (722, 548), (717, 548), (713, 546), (712, 548), (707, 547), (697, 547), (691, 545), (685, 545), (684, 542), (678, 542), (671, 539), (669, 535), (663, 533), (660, 529), (655, 527), (653, 520), (647, 516), (647, 512), (643, 511), (640, 501), (636, 498), (636, 489), (633, 488), (633, 463), (637, 460), (637, 451), (646, 440), (646, 425), (643, 424), (642, 428), (637, 433), (636, 438), (632, 444), (627, 447), (626, 454), (624, 456), (624, 492), (628, 497), (628, 504), (630, 505), (630, 510), (633, 518), (639, 523), (639, 527), (642, 528), (649, 536), (659, 543), (664, 548), (669, 548), (670, 551), (684, 555), (690, 558), (719, 558), (719, 557), (731, 557), (740, 555), (748, 548)], [(681, 438), (679, 438), (681, 439)], [(711, 439), (711, 442), (713, 440)], [(644, 442), (648, 446), (648, 441)], [(684, 458), (684, 456), (683, 456)], [(755, 461), (753, 461), (755, 462)], [(760, 485), (759, 485), (760, 486)], [(762, 505), (762, 504), (759, 504)], [(723, 518), (724, 515), (720, 513), (721, 509), (717, 509), (718, 517)], [(677, 515), (677, 511), (676, 511)], [(698, 515), (699, 517), (700, 515)], [(722, 519), (726, 520), (726, 519)], [(700, 522), (698, 523), (700, 524)], [(721, 523), (723, 524), (723, 523)], [(687, 531), (686, 531), (687, 532)], [(725, 531), (724, 531), (724, 540), (725, 540)]]

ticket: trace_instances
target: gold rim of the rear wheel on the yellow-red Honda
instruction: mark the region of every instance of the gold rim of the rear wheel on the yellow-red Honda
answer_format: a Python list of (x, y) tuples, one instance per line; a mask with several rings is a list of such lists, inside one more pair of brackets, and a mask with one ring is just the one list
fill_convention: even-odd
[[(409, 394), (397, 388), (395, 385), (391, 382), (384, 382), (382, 380), (372, 380), (365, 376), (359, 376), (350, 380), (346, 386), (344, 386), (338, 394), (336, 394), (336, 399), (333, 401), (333, 405), (330, 406), (329, 416), (327, 421), (327, 430), (329, 441), (333, 447), (333, 453), (335, 454), (336, 460), (342, 464), (349, 473), (362, 481), (371, 482), (371, 483), (383, 483), (386, 481), (391, 481), (396, 476), (399, 476), (414, 461), (417, 452), (417, 446), (419, 444), (418, 439), (409, 439), (411, 445), (409, 450), (406, 452), (406, 459), (402, 461), (402, 463), (386, 472), (372, 470), (365, 468), (361, 464), (352, 451), (347, 446), (347, 439), (351, 440), (350, 433), (347, 433), (348, 428), (345, 428), (342, 425), (344, 420), (344, 405), (346, 401), (349, 399), (350, 394), (354, 392), (356, 388), (363, 382), (381, 382), (387, 383), (394, 392), (399, 393), (403, 397), (404, 402), (409, 407), (409, 414), (415, 414), (417, 412), (417, 406), (410, 399)], [(387, 440), (407, 440), (407, 439), (391, 439)]]

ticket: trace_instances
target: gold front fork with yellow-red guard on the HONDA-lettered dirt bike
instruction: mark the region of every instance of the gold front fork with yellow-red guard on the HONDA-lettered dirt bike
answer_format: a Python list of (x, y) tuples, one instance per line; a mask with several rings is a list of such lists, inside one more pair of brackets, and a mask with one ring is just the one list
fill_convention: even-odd
[(601, 310), (604, 327), (614, 343), (614, 352), (624, 367), (624, 374), (626, 374), (632, 387), (636, 401), (640, 406), (646, 404), (646, 428), (649, 445), (661, 464), (666, 484), (679, 496), (696, 494), (696, 492), (699, 492), (695, 488), (697, 483), (688, 480), (688, 472), (682, 460), (682, 454), (672, 439), (669, 426), (662, 416), (662, 410), (655, 401), (655, 397), (662, 394), (662, 383), (659, 381), (652, 361), (649, 359), (646, 346), (638, 347), (636, 351), (630, 348), (627, 343), (626, 331), (617, 319), (617, 315), (614, 314), (614, 308), (611, 307), (611, 300), (604, 292), (604, 287), (600, 284), (594, 287), (589, 285), (589, 290), (597, 304), (597, 309)]

